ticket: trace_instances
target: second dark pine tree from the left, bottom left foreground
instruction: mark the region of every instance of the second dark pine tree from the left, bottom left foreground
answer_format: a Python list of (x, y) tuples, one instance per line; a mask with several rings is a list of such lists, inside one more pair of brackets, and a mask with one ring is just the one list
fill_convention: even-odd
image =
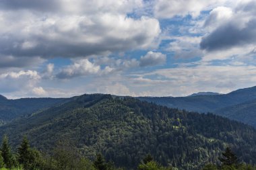
[(25, 169), (28, 169), (30, 165), (30, 146), (26, 136), (24, 136), (22, 144), (20, 144), (18, 148), (18, 162), (23, 165)]

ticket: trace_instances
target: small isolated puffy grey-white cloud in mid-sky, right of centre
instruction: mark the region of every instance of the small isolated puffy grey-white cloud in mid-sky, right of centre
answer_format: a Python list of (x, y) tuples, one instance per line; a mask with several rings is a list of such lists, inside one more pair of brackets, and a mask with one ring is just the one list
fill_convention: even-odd
[(166, 54), (161, 52), (148, 52), (145, 56), (141, 56), (139, 66), (148, 67), (163, 65), (166, 62)]

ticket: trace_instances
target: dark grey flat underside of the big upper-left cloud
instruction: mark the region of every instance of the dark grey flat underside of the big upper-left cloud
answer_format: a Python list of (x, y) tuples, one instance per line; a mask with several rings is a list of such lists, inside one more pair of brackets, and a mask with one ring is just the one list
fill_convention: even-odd
[(24, 40), (16, 40), (9, 36), (8, 41), (0, 40), (0, 53), (13, 56), (41, 56), (43, 58), (53, 58), (55, 56), (76, 57), (88, 56), (92, 54), (104, 54), (105, 52), (120, 52), (123, 50), (134, 49), (136, 46), (147, 43), (146, 35), (139, 35), (134, 39), (120, 40), (115, 38), (106, 38), (102, 42), (77, 43), (69, 42), (68, 40), (46, 40), (44, 38), (31, 38), (39, 44), (33, 48), (22, 49), (19, 46), (15, 47), (13, 42), (23, 44)]

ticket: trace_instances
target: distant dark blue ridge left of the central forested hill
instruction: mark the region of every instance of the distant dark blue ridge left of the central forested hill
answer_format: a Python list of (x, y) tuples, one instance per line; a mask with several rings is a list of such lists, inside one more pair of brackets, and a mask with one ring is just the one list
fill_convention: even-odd
[(7, 99), (0, 95), (0, 124), (9, 122), (20, 116), (28, 116), (38, 110), (50, 108), (58, 103), (65, 103), (65, 98), (22, 98)]

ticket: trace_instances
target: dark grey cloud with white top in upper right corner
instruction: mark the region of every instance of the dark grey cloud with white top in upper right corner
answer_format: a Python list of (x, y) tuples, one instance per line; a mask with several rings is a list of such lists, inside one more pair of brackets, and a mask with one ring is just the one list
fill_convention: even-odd
[[(223, 50), (236, 46), (256, 44), (255, 1), (238, 3), (234, 11), (229, 11), (226, 22), (217, 25), (212, 32), (204, 36), (200, 47), (203, 50)], [(219, 11), (220, 12), (220, 11)], [(232, 15), (232, 16), (230, 16)], [(208, 24), (214, 19), (210, 19)]]

